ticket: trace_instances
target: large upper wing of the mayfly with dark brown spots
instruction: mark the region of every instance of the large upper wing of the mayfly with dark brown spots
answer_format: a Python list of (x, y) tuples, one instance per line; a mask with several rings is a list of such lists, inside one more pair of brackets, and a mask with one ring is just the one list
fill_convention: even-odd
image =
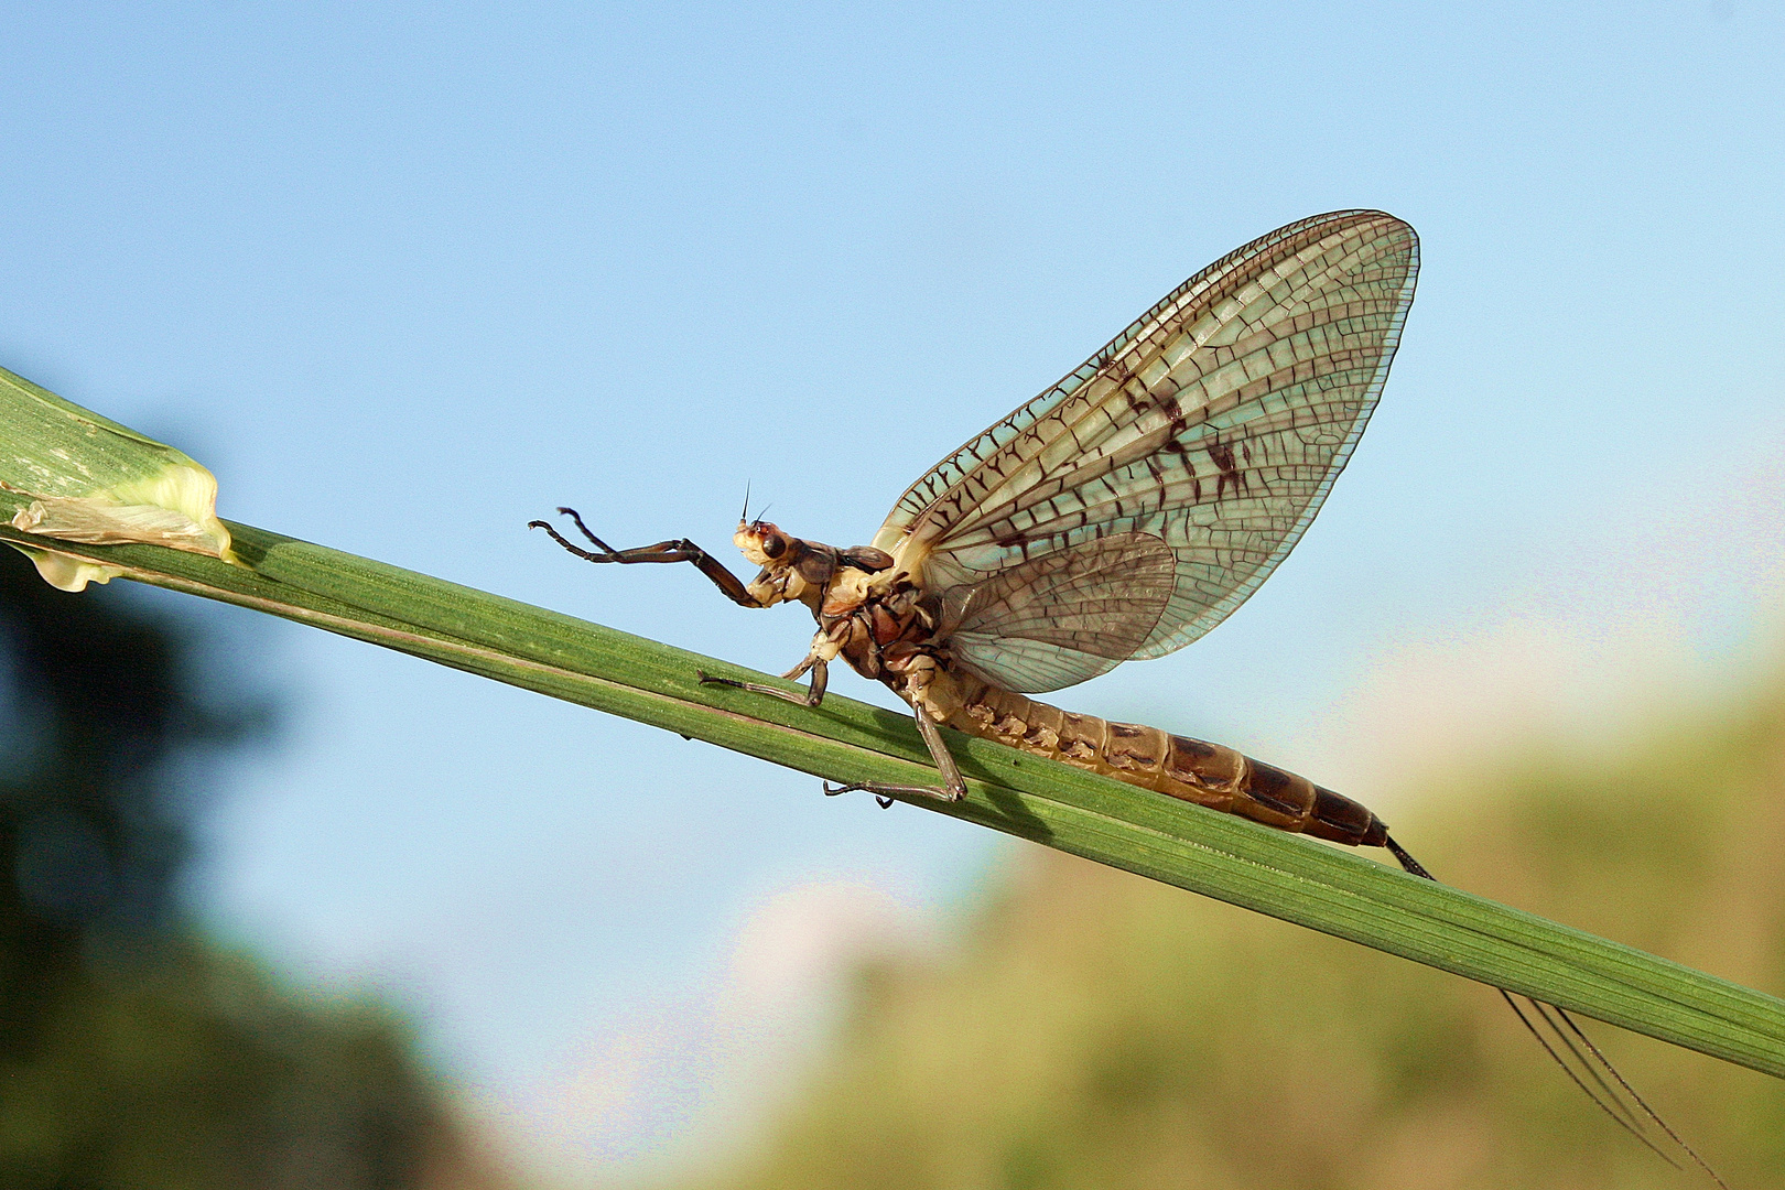
[[(1314, 519), (1382, 393), (1417, 268), (1414, 228), (1380, 211), (1314, 216), (1228, 253), (912, 483), (875, 546), (959, 607), (1007, 571), (998, 603), (1009, 605), (1017, 576), (1053, 553), (1101, 558), (1114, 567), (1108, 599), (1073, 612), (1096, 635), (1100, 617), (1135, 619), (1119, 608), (1119, 567), (1148, 537), (1171, 553), (1173, 583), (1126, 657), (1183, 648), (1244, 603)], [(1083, 553), (1110, 537), (1130, 544)], [(985, 605), (971, 664), (991, 676), (1000, 653), (1023, 658), (1001, 671), (1025, 669), (1014, 689), (1026, 692), (1103, 673), (1112, 658), (1071, 642), (1051, 642), (1037, 665), (1025, 635), (1050, 599), (1094, 585), (1050, 583), (1021, 617)]]

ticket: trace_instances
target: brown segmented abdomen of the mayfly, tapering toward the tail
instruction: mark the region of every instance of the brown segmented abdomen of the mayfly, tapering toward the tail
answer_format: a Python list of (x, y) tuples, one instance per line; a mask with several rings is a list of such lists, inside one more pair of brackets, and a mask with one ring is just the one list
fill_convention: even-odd
[(946, 721), (957, 731), (1278, 830), (1362, 847), (1380, 847), (1387, 839), (1382, 821), (1349, 797), (1232, 748), (1076, 715), (962, 673), (948, 676), (960, 694), (960, 710)]

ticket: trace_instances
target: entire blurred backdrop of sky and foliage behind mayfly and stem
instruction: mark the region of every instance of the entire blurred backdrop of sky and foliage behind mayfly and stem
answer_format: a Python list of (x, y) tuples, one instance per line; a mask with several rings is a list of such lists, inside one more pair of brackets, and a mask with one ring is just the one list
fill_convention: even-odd
[[(866, 542), (1291, 219), (1423, 236), (1319, 523), (1060, 701), (1785, 992), (1785, 18), (11, 4), (0, 364), (220, 512), (780, 671), (525, 523)], [(1487, 988), (632, 723), (0, 558), (20, 1186), (1635, 1186)], [(841, 692), (880, 699), (843, 680)], [(1780, 1083), (1599, 1029), (1739, 1186)]]

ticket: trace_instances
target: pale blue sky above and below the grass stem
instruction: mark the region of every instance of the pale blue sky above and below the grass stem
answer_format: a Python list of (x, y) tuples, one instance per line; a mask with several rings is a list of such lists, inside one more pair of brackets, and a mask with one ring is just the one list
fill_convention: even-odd
[[(614, 542), (719, 551), (748, 482), (791, 532), (864, 542), (937, 457), (1194, 269), (1382, 207), (1423, 236), (1419, 296), (1319, 523), (1207, 640), (1062, 701), (1369, 801), (1392, 774), (1341, 744), (1385, 705), (1371, 690), (1421, 673), (1446, 689), (1419, 701), (1469, 717), (1458, 674), (1492, 685), (1401, 665), (1421, 649), (1539, 624), (1521, 664), (1569, 673), (1610, 665), (1637, 621), (1676, 660), (1767, 623), (1776, 9), (0, 20), (0, 364), (203, 460), (232, 519), (778, 671), (800, 614), (734, 608), (693, 571), (594, 571), (525, 523), (575, 503)], [(487, 1103), (550, 1099), (625, 1022), (710, 1001), (764, 906), (859, 888), (923, 917), (1000, 855), (361, 644), (220, 640), (289, 721), (209, 826), (200, 908), (300, 978), (403, 997)], [(678, 1078), (707, 1079), (659, 1081)], [(698, 1087), (652, 1094), (566, 1160), (680, 1144)]]

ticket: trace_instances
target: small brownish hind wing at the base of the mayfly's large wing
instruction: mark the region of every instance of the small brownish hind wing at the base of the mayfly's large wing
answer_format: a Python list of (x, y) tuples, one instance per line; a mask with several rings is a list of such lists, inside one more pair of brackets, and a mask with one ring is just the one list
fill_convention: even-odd
[(957, 662), (1041, 694), (1133, 657), (1171, 601), (1175, 558), (1157, 537), (1116, 533), (1009, 566), (942, 596)]

